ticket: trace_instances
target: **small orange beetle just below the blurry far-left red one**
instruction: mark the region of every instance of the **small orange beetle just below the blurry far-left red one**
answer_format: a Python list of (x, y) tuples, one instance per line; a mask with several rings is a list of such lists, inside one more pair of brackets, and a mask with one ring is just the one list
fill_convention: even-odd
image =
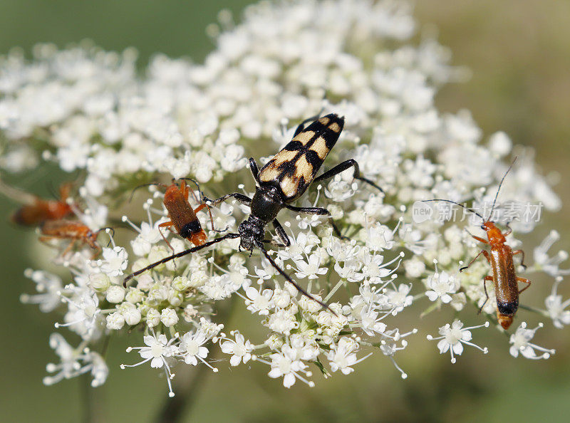
[(98, 231), (92, 231), (86, 224), (76, 220), (48, 220), (44, 221), (40, 226), (41, 236), (39, 240), (47, 242), (51, 239), (71, 239), (61, 256), (65, 256), (71, 251), (77, 241), (83, 241), (83, 243), (95, 250), (93, 253), (93, 258), (95, 258), (101, 251), (101, 247), (97, 243), (97, 236), (100, 231), (105, 229), (113, 231), (113, 234), (115, 232), (113, 228), (101, 228)]

